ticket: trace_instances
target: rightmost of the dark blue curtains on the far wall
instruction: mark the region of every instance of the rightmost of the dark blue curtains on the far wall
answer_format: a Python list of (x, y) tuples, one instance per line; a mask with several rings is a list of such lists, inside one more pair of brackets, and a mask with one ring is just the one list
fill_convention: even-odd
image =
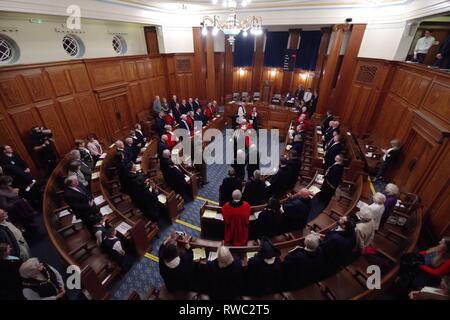
[(295, 65), (297, 68), (310, 71), (316, 69), (316, 60), (321, 39), (321, 31), (302, 31)]

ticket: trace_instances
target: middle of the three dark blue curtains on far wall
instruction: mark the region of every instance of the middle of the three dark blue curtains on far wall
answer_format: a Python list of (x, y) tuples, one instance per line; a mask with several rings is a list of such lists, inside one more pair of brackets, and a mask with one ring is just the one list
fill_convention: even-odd
[(283, 67), (289, 32), (267, 32), (266, 51), (264, 52), (264, 66)]

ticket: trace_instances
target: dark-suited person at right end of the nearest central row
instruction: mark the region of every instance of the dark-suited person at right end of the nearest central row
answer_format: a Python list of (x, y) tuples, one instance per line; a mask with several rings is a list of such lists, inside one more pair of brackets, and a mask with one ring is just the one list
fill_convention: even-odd
[(321, 248), (325, 257), (326, 275), (336, 272), (353, 258), (356, 247), (355, 221), (347, 216), (341, 217), (338, 227), (326, 235), (320, 234)]

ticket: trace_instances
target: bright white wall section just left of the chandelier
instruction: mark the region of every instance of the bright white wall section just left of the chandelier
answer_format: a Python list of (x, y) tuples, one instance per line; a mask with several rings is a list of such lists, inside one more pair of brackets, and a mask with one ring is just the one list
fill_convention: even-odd
[[(164, 48), (160, 46), (160, 53), (193, 53), (194, 36), (192, 27), (172, 27), (162, 26), (158, 37), (164, 43)], [(164, 49), (164, 50), (162, 50)]]

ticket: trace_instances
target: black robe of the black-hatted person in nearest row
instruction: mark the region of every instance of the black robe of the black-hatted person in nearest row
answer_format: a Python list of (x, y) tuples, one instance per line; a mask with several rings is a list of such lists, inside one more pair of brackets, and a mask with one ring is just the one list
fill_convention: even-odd
[(276, 257), (275, 262), (267, 264), (260, 255), (248, 261), (244, 271), (246, 291), (252, 296), (263, 296), (281, 291), (281, 262)]

